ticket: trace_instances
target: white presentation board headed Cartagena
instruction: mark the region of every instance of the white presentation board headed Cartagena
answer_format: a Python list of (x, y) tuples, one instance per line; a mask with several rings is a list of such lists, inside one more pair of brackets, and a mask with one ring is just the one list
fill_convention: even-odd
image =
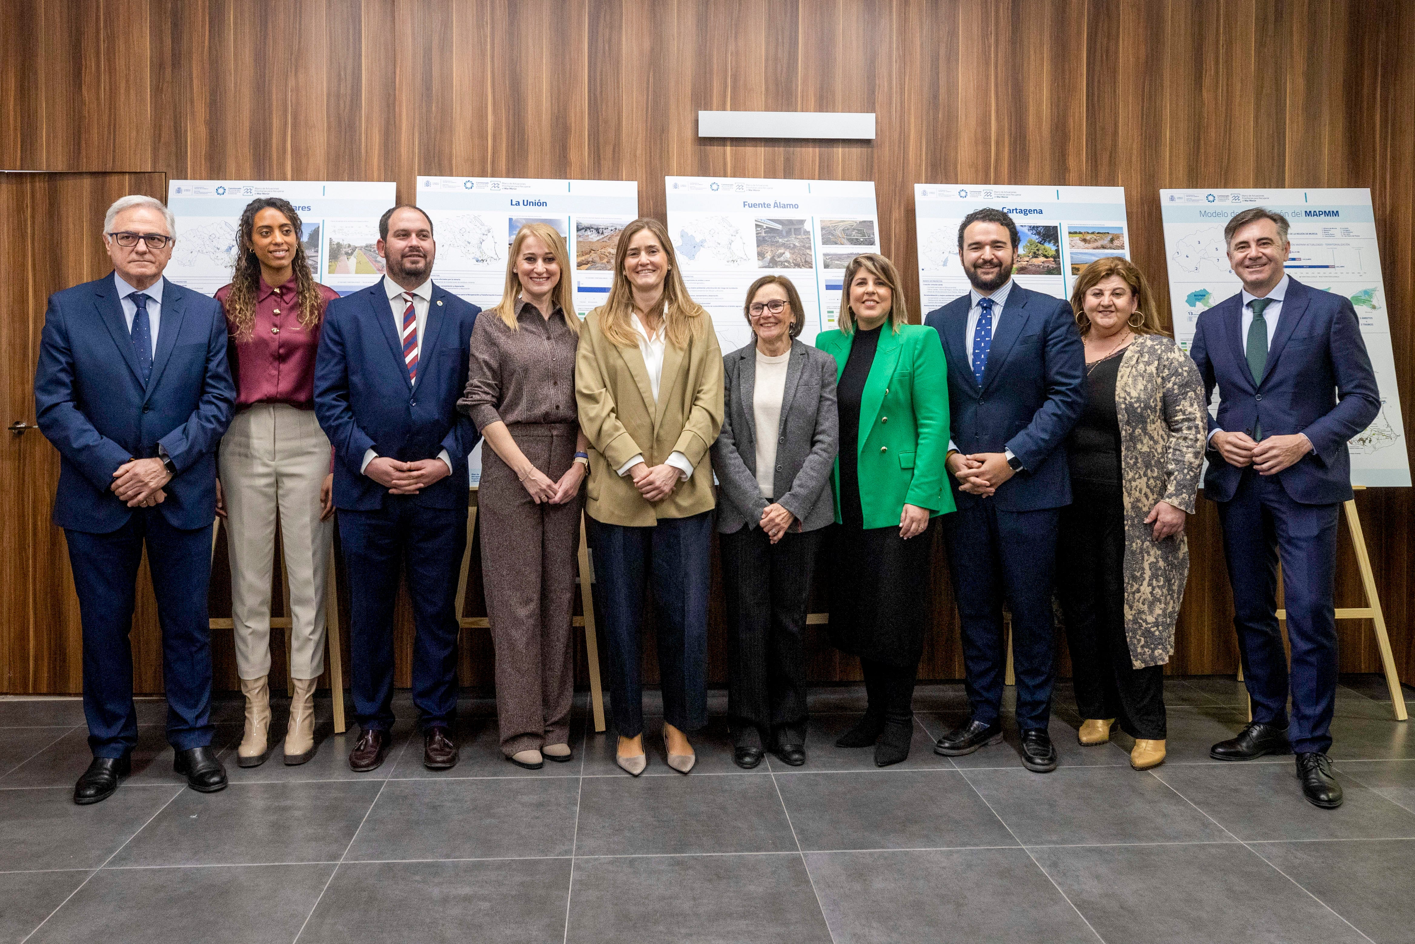
[(992, 207), (1017, 224), (1017, 284), (1058, 299), (1104, 256), (1131, 258), (1124, 187), (999, 187), (914, 184), (918, 293), (924, 314), (969, 289), (958, 259), (958, 226)]

